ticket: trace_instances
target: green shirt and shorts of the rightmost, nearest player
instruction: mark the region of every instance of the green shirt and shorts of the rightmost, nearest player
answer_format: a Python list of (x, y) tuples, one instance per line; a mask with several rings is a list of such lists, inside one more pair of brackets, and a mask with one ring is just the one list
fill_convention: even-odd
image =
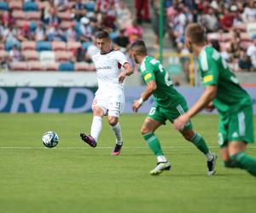
[(216, 85), (217, 96), (213, 105), (220, 114), (218, 145), (229, 141), (253, 142), (253, 101), (242, 89), (233, 72), (216, 49), (204, 47), (199, 55), (202, 83)]

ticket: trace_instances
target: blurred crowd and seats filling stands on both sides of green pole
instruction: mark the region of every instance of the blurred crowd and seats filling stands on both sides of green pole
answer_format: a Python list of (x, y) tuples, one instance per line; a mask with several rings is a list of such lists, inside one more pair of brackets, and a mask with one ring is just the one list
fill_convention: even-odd
[[(10, 71), (93, 71), (94, 33), (108, 29), (125, 54), (150, 27), (159, 49), (160, 0), (0, 0), (0, 62)], [(184, 29), (201, 22), (207, 41), (236, 71), (256, 71), (256, 0), (164, 0), (164, 34), (183, 55)], [(168, 50), (169, 51), (169, 50)], [(128, 54), (127, 54), (128, 55)]]

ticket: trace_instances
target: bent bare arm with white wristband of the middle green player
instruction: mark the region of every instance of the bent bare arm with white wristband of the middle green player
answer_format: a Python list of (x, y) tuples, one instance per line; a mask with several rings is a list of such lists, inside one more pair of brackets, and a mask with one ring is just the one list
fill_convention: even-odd
[(143, 91), (141, 97), (139, 100), (134, 101), (133, 105), (132, 105), (132, 110), (134, 112), (137, 112), (137, 110), (139, 109), (139, 107), (141, 107), (143, 105), (144, 101), (147, 101), (148, 98), (153, 94), (154, 90), (157, 88), (157, 85), (155, 83), (155, 80), (150, 80), (147, 82), (147, 87), (146, 89)]

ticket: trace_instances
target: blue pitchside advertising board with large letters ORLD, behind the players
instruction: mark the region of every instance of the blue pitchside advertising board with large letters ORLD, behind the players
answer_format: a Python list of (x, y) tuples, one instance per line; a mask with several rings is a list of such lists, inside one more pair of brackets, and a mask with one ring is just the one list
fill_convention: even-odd
[[(125, 88), (125, 112), (132, 112), (131, 106), (144, 87)], [(200, 97), (203, 88), (177, 88), (191, 107)], [(0, 88), (0, 112), (91, 112), (91, 102), (96, 88), (41, 88), (41, 87), (4, 87)], [(247, 88), (253, 98), (253, 112), (256, 114), (256, 88)], [(143, 103), (139, 112), (147, 113), (153, 98)], [(216, 113), (216, 111), (215, 111)]]

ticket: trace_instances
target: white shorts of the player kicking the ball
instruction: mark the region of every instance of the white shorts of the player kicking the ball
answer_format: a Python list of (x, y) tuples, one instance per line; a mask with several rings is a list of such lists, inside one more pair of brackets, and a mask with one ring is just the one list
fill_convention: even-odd
[(119, 115), (124, 112), (125, 108), (125, 95), (123, 91), (96, 91), (94, 100), (92, 101), (91, 108), (98, 106), (101, 107), (104, 115), (119, 118)]

